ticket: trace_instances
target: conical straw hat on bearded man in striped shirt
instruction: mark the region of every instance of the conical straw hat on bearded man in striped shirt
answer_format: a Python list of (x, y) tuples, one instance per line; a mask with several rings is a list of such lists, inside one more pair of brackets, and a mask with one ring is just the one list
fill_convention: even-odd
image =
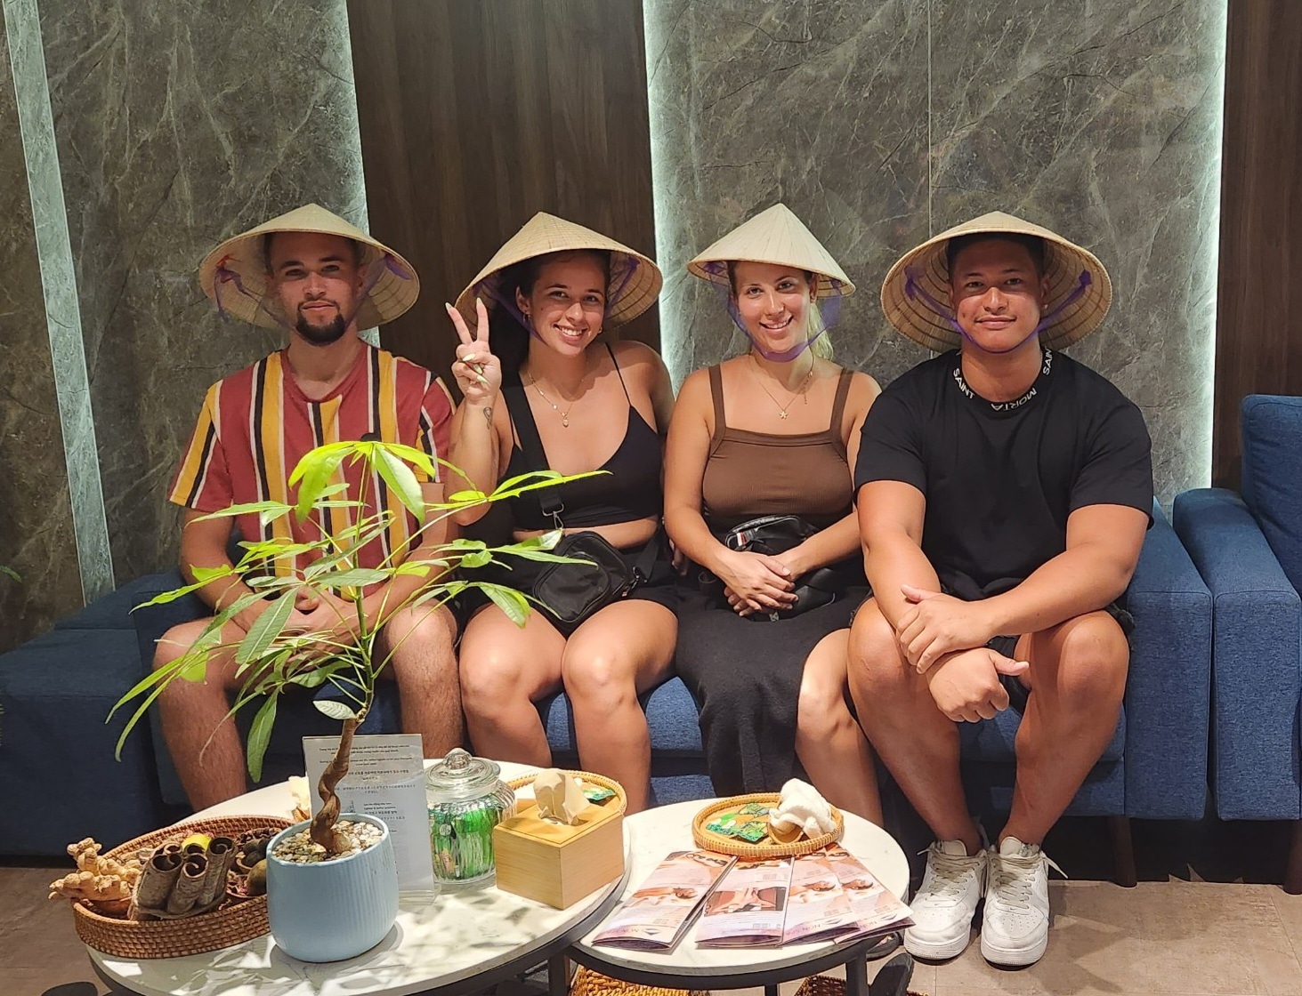
[(415, 304), (421, 294), (415, 270), (397, 252), (320, 204), (306, 204), (227, 239), (204, 256), (199, 264), (199, 283), (221, 311), (254, 325), (281, 328), (283, 322), (263, 300), (267, 296), (267, 261), (262, 242), (272, 231), (342, 235), (362, 246), (362, 272), (375, 277), (375, 282), (357, 311), (359, 329), (393, 321)]

